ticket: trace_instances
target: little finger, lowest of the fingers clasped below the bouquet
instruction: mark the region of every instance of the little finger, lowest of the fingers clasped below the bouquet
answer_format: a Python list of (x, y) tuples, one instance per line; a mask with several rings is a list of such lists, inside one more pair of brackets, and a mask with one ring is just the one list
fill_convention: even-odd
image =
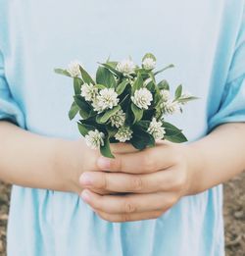
[(145, 213), (134, 213), (134, 214), (108, 214), (101, 211), (95, 211), (99, 217), (105, 221), (112, 223), (124, 223), (124, 222), (135, 222), (143, 220), (157, 219), (163, 215), (161, 211), (152, 211)]

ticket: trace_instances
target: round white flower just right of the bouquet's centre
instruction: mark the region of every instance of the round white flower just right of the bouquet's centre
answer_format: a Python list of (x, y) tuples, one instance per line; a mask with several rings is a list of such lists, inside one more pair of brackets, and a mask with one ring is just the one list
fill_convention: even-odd
[(147, 88), (140, 88), (135, 90), (134, 95), (131, 96), (131, 100), (140, 109), (148, 109), (153, 97)]

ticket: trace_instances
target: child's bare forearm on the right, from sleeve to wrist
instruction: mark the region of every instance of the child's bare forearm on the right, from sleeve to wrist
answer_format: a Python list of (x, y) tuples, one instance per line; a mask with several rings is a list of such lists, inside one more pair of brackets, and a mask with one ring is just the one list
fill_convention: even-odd
[(245, 170), (245, 124), (226, 124), (187, 145), (194, 179), (190, 194), (202, 192)]

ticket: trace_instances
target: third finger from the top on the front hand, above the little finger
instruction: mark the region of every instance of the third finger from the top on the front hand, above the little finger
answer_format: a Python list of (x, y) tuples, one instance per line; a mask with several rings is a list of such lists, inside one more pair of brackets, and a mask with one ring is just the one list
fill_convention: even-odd
[(166, 210), (175, 202), (170, 193), (99, 195), (88, 189), (82, 191), (81, 198), (93, 209), (110, 214)]

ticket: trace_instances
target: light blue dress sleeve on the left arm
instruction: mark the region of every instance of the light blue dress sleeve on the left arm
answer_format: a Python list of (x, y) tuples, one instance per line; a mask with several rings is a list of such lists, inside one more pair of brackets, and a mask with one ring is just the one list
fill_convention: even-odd
[(0, 51), (0, 121), (1, 120), (8, 120), (19, 127), (25, 128), (25, 117), (9, 89), (4, 72), (4, 59)]

